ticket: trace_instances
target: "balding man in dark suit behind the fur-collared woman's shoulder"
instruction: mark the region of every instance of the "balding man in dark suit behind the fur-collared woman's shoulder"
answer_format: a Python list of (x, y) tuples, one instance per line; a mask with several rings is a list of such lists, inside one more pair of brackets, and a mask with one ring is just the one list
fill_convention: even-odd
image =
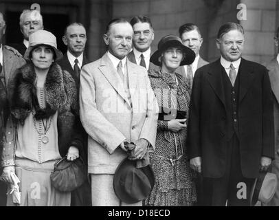
[[(65, 28), (63, 42), (67, 45), (67, 53), (57, 63), (71, 74), (76, 82), (79, 91), (80, 69), (90, 61), (85, 57), (85, 43), (87, 35), (85, 27), (81, 23), (71, 23)], [(82, 135), (83, 152), (79, 152), (82, 159), (87, 164), (87, 133), (81, 122), (78, 123), (80, 134)], [(74, 153), (74, 152), (73, 152)], [(91, 186), (85, 182), (80, 188), (71, 192), (71, 206), (91, 206)]]

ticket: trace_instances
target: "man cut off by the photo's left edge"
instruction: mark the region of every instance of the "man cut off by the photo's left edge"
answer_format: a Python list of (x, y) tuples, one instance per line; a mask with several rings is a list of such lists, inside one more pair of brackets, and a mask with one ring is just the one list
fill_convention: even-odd
[[(0, 12), (0, 162), (1, 166), (8, 166), (8, 164), (3, 164), (1, 161), (2, 155), (2, 140), (12, 137), (4, 137), (3, 130), (5, 129), (6, 122), (8, 120), (8, 115), (10, 114), (10, 109), (8, 107), (8, 96), (10, 96), (10, 89), (8, 84), (12, 78), (12, 74), (15, 70), (25, 64), (24, 59), (14, 52), (14, 49), (7, 47), (2, 44), (3, 35), (5, 34), (5, 20), (3, 19), (3, 14)], [(0, 168), (0, 175), (2, 173), (2, 167)], [(0, 206), (5, 206), (6, 204), (6, 192), (7, 186), (3, 181), (0, 181)]]

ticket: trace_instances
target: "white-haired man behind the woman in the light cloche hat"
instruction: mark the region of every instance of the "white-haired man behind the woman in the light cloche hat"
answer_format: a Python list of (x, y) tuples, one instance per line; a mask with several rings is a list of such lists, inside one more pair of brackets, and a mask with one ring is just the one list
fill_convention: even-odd
[(14, 43), (11, 46), (24, 56), (25, 50), (29, 47), (30, 34), (37, 30), (43, 30), (43, 17), (38, 10), (23, 10), (19, 17), (19, 25), (24, 39), (21, 43)]

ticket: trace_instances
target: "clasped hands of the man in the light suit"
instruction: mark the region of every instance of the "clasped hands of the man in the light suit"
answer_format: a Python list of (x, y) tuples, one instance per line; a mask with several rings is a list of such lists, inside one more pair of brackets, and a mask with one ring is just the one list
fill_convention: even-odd
[[(126, 141), (124, 141), (126, 142)], [(127, 152), (129, 155), (129, 159), (131, 160), (137, 160), (137, 159), (142, 159), (144, 155), (146, 154), (147, 147), (148, 147), (148, 141), (141, 138), (137, 141), (135, 141), (135, 144), (126, 144), (126, 147), (124, 142), (120, 144), (120, 147), (122, 148), (123, 151)], [(129, 148), (129, 146), (131, 148)]]

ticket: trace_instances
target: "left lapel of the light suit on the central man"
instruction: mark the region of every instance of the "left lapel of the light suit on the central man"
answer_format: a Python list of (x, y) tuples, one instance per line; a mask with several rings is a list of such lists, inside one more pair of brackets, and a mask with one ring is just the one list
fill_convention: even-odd
[(109, 59), (109, 56), (107, 56), (107, 53), (102, 56), (102, 60), (100, 62), (100, 72), (104, 75), (105, 78), (109, 81), (111, 86), (115, 89), (115, 91), (118, 92), (118, 94), (127, 102), (126, 98), (124, 97), (124, 85), (120, 82), (117, 72), (115, 68), (113, 67), (113, 63), (111, 63), (111, 60)]

